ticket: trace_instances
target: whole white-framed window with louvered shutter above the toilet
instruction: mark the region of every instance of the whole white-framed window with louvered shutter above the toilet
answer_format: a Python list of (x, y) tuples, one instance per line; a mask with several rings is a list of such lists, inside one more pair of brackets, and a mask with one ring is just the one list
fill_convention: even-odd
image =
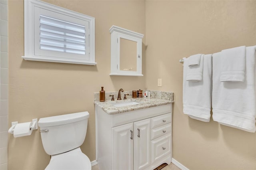
[(46, 2), (25, 0), (22, 58), (96, 65), (94, 20)]

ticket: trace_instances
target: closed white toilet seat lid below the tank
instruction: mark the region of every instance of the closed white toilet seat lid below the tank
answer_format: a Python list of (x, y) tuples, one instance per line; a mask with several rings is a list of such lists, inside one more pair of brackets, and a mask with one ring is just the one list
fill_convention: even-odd
[(91, 170), (90, 159), (80, 148), (68, 152), (52, 155), (45, 170)]

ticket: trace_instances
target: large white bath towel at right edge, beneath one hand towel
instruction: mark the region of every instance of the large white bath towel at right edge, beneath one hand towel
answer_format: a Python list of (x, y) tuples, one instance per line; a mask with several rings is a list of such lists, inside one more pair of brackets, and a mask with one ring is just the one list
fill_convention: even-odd
[(218, 123), (255, 132), (255, 49), (246, 47), (244, 82), (220, 82), (222, 54), (212, 55), (212, 118)]

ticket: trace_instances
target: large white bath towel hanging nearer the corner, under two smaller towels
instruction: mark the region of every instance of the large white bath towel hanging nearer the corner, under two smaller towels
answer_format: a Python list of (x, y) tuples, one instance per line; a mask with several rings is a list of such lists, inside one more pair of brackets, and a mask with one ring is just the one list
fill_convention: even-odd
[(209, 122), (212, 100), (212, 55), (204, 55), (202, 81), (186, 81), (188, 60), (183, 67), (183, 113), (193, 119)]

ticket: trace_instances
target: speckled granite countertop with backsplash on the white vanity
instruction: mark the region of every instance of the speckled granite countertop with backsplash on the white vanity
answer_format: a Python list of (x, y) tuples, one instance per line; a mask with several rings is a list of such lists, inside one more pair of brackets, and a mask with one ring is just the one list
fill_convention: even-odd
[[(130, 91), (126, 91), (125, 93), (129, 93)], [(109, 94), (111, 92), (108, 92)], [(116, 92), (112, 92), (111, 94), (115, 94)], [(98, 99), (98, 94), (94, 93), (94, 104), (98, 105), (101, 107), (106, 113), (109, 115), (116, 114), (116, 113), (124, 113), (128, 111), (135, 111), (139, 109), (145, 109), (149, 107), (156, 107), (160, 105), (167, 105), (173, 103), (173, 93), (168, 93), (168, 92), (162, 92), (162, 91), (151, 91), (150, 92), (152, 97), (148, 99), (143, 98), (132, 98), (132, 97), (127, 97), (127, 99), (122, 99), (122, 100), (106, 100), (104, 102), (100, 102)], [(108, 94), (107, 94), (108, 95)], [(109, 95), (108, 95), (109, 96)], [(139, 104), (137, 105), (130, 105), (130, 106), (121, 106), (121, 107), (116, 107), (113, 104), (117, 103), (124, 103), (124, 102), (137, 102)]]

